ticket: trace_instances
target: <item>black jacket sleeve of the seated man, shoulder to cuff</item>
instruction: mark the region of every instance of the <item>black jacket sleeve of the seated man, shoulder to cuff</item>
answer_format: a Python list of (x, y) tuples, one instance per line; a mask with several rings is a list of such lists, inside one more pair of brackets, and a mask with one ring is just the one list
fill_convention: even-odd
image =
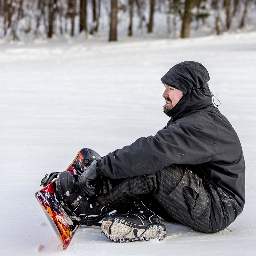
[(139, 138), (109, 153), (98, 163), (97, 172), (121, 179), (157, 172), (171, 164), (209, 162), (215, 152), (217, 126), (200, 120), (188, 121), (169, 125), (155, 136)]

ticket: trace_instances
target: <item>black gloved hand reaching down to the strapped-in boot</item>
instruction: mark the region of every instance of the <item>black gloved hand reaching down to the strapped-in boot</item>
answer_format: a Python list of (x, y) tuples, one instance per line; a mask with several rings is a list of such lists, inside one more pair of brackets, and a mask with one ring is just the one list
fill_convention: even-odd
[(79, 181), (78, 188), (84, 192), (85, 196), (96, 195), (96, 181), (100, 178), (100, 175), (96, 172), (97, 160), (94, 160), (90, 167), (82, 173)]

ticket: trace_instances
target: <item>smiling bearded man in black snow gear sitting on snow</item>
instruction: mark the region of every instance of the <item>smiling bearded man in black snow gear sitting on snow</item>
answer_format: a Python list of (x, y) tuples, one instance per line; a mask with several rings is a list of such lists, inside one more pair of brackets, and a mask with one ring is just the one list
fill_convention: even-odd
[(212, 104), (209, 79), (198, 62), (175, 65), (161, 79), (171, 117), (162, 130), (94, 160), (79, 178), (59, 174), (57, 197), (77, 224), (103, 219), (109, 239), (128, 242), (162, 240), (158, 216), (204, 233), (236, 219), (245, 201), (244, 157), (233, 127)]

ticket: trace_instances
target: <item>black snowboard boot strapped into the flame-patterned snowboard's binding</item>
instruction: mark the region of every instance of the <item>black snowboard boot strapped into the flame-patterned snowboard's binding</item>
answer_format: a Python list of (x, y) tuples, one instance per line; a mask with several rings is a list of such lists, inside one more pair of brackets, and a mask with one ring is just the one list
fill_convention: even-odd
[(79, 175), (72, 176), (70, 172), (60, 172), (56, 180), (56, 198), (77, 225), (96, 225), (110, 209), (84, 196), (77, 187), (79, 178)]

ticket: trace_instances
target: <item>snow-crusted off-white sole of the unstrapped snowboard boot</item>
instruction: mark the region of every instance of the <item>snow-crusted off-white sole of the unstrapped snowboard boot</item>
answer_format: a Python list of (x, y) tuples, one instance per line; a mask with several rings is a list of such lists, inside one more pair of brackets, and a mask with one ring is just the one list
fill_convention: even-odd
[(117, 243), (148, 241), (154, 238), (163, 240), (166, 234), (166, 228), (163, 224), (152, 223), (148, 226), (138, 226), (120, 218), (103, 220), (101, 229), (105, 236)]

